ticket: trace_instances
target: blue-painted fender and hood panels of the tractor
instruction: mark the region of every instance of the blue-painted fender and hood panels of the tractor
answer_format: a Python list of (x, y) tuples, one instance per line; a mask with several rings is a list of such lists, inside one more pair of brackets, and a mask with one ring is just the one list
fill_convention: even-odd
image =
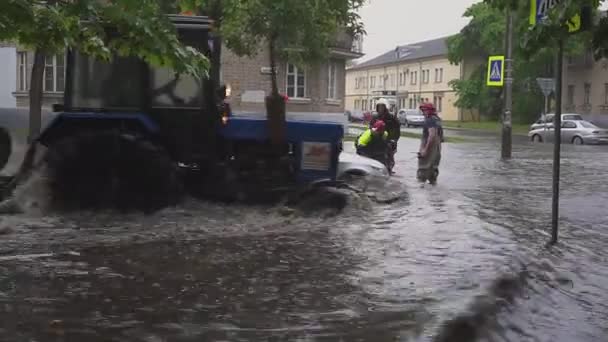
[[(161, 145), (164, 141), (162, 126), (154, 119), (144, 113), (128, 112), (58, 113), (38, 140), (41, 144), (50, 146), (80, 132), (108, 130), (137, 133)], [(225, 124), (218, 126), (217, 131), (220, 142), (224, 144), (267, 146), (269, 141), (268, 123), (265, 119), (230, 116)], [(344, 128), (338, 123), (288, 120), (286, 142), (293, 157), (296, 183), (306, 185), (325, 180), (335, 181), (343, 137)], [(170, 150), (168, 146), (163, 147)]]

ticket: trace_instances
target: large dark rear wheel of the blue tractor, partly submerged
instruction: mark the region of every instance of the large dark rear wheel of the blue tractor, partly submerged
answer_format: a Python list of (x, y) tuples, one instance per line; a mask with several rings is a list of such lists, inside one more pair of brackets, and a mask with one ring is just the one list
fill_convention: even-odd
[(51, 205), (62, 210), (152, 212), (182, 195), (177, 165), (149, 140), (113, 131), (53, 143), (46, 155)]

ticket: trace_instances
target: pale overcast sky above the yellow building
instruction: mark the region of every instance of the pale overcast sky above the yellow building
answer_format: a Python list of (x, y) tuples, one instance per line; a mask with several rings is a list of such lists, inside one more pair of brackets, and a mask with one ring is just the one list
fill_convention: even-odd
[(365, 56), (359, 62), (394, 50), (397, 45), (458, 33), (468, 23), (462, 14), (480, 0), (367, 1), (360, 11), (367, 36), (363, 40)]

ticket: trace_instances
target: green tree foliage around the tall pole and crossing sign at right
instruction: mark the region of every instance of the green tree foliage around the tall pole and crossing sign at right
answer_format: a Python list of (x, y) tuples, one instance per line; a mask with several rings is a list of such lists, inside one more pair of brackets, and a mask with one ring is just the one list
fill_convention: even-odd
[[(469, 7), (464, 16), (471, 18), (462, 31), (448, 40), (449, 59), (461, 63), (471, 58), (482, 62), (468, 79), (452, 82), (459, 100), (456, 105), (465, 110), (478, 110), (482, 115), (498, 118), (502, 108), (500, 89), (486, 86), (487, 58), (504, 54), (506, 29), (505, 9), (509, 7), (514, 16), (513, 47), (513, 115), (518, 121), (530, 122), (543, 109), (544, 98), (536, 85), (537, 77), (553, 77), (557, 46), (555, 34), (548, 37), (551, 29), (565, 34), (567, 28), (551, 24), (550, 19), (542, 27), (532, 29), (529, 25), (529, 0), (487, 0)], [(554, 11), (551, 15), (558, 15)], [(559, 13), (563, 17), (576, 11)], [(552, 26), (553, 25), (553, 26)], [(608, 36), (607, 36), (608, 37)], [(590, 33), (572, 35), (566, 44), (568, 54), (579, 54), (591, 44)]]

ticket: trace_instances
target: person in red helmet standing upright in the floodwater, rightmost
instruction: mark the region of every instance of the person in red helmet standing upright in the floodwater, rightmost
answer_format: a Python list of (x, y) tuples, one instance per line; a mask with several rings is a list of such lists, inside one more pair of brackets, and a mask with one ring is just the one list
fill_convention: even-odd
[(424, 126), (418, 152), (416, 178), (423, 183), (428, 180), (429, 183), (435, 184), (439, 176), (443, 128), (441, 127), (441, 119), (432, 103), (421, 104), (420, 111), (424, 114)]

